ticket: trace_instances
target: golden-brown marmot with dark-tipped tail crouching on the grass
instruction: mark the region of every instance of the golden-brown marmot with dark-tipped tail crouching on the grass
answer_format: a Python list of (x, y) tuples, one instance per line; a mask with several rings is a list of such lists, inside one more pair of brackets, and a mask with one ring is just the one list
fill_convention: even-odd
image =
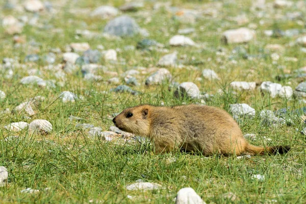
[(290, 146), (258, 147), (249, 144), (234, 118), (216, 107), (140, 105), (123, 110), (113, 122), (120, 130), (150, 138), (155, 153), (180, 148), (202, 155), (285, 154)]

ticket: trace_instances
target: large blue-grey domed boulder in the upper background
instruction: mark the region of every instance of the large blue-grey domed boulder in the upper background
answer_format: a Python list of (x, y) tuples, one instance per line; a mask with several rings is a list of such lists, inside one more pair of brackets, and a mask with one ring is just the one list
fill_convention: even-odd
[(104, 32), (115, 36), (133, 36), (139, 33), (139, 25), (130, 16), (122, 15), (109, 21)]

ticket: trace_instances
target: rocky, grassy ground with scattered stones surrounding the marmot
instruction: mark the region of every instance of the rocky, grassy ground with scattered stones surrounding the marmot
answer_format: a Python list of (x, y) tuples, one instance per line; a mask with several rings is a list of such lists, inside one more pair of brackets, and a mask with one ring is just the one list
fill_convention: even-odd
[[(3, 203), (303, 203), (304, 1), (0, 2)], [(152, 155), (112, 118), (225, 109), (286, 156)]]

